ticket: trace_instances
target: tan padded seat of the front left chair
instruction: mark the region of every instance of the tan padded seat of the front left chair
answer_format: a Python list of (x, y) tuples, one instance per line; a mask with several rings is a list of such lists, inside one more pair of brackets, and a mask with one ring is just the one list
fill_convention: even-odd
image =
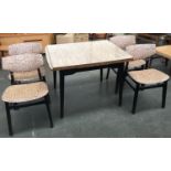
[(11, 85), (2, 94), (6, 103), (25, 103), (35, 100), (47, 95), (49, 89), (44, 82)]

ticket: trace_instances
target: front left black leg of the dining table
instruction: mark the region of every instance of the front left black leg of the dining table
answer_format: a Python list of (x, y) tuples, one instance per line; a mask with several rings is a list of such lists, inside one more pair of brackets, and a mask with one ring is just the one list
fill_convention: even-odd
[(64, 72), (60, 71), (60, 100), (61, 100), (61, 118), (64, 117), (64, 85), (65, 77)]

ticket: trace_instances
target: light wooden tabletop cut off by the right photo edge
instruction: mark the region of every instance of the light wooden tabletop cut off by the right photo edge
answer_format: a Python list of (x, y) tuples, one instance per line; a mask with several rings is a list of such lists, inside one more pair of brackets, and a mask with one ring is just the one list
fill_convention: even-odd
[(163, 45), (157, 47), (157, 54), (171, 60), (171, 45)]

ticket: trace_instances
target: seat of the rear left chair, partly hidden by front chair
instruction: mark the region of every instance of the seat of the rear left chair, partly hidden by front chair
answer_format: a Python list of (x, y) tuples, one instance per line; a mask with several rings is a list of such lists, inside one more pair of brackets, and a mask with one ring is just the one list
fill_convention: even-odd
[[(45, 76), (45, 70), (44, 67), (40, 68), (41, 75)], [(39, 79), (39, 73), (36, 71), (31, 71), (31, 72), (20, 72), (20, 73), (13, 73), (14, 81), (17, 82), (30, 82), (30, 81), (35, 81)], [(11, 79), (11, 74), (9, 74), (9, 79)]]

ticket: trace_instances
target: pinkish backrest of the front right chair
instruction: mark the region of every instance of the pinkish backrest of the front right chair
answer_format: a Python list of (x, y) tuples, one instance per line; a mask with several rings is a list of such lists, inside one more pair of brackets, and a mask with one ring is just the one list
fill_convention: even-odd
[(147, 58), (156, 54), (156, 44), (136, 44), (126, 47), (133, 60)]

